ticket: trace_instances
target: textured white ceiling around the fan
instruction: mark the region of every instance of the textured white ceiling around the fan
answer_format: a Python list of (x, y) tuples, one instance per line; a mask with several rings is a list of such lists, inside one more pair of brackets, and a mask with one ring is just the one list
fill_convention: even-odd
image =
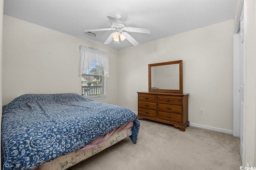
[[(151, 34), (129, 32), (145, 43), (231, 20), (235, 6), (236, 0), (4, 0), (4, 14), (104, 45), (113, 30), (94, 32), (96, 38), (84, 30), (110, 28), (107, 15), (121, 14), (127, 27), (149, 28)], [(106, 46), (132, 44), (124, 40)]]

